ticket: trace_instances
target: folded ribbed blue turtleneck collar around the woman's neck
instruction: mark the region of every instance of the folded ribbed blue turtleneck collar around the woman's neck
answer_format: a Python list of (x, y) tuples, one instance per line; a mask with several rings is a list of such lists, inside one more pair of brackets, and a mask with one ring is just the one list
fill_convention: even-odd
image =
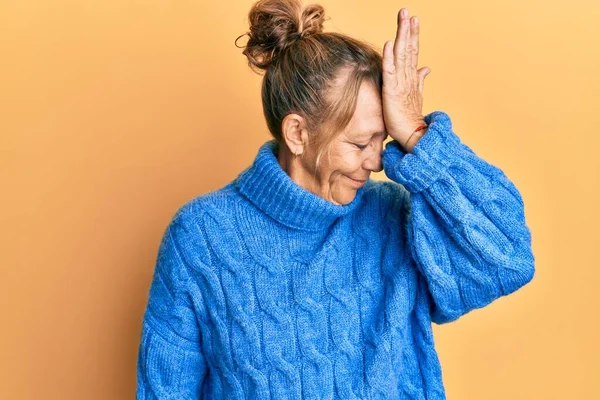
[(369, 182), (356, 191), (352, 202), (337, 205), (294, 182), (279, 165), (276, 151), (274, 139), (265, 142), (252, 165), (235, 180), (238, 190), (266, 214), (292, 228), (321, 230), (356, 209)]

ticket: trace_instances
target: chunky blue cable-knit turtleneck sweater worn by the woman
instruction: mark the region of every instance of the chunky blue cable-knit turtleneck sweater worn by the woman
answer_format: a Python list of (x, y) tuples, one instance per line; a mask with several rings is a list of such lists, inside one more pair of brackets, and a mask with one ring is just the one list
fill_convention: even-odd
[(347, 205), (298, 186), (275, 142), (167, 226), (137, 399), (445, 399), (432, 322), (533, 278), (522, 197), (442, 111), (391, 181)]

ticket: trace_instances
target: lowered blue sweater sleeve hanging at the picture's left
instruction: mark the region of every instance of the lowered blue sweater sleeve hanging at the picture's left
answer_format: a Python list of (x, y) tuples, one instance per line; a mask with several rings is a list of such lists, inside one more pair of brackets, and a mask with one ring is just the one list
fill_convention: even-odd
[(137, 360), (138, 400), (198, 399), (207, 372), (195, 310), (200, 299), (182, 252), (181, 213), (166, 228), (142, 320)]

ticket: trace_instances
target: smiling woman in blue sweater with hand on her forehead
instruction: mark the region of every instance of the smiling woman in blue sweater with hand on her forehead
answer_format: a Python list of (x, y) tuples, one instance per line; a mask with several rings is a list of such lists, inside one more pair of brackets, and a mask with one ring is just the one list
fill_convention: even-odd
[(446, 113), (422, 115), (401, 11), (382, 57), (323, 32), (319, 5), (253, 6), (244, 54), (273, 139), (167, 227), (138, 399), (444, 399), (432, 322), (533, 278), (519, 191)]

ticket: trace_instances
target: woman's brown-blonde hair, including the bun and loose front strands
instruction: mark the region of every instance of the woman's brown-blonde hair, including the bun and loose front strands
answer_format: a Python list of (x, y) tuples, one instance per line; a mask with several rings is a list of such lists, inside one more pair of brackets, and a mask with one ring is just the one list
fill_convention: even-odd
[[(250, 30), (243, 54), (262, 82), (263, 112), (278, 146), (282, 121), (297, 113), (307, 121), (317, 146), (315, 169), (350, 122), (363, 82), (381, 94), (382, 56), (363, 41), (323, 32), (325, 11), (300, 0), (259, 0), (248, 14)], [(236, 44), (237, 45), (237, 44)], [(343, 82), (339, 81), (345, 76)]]

